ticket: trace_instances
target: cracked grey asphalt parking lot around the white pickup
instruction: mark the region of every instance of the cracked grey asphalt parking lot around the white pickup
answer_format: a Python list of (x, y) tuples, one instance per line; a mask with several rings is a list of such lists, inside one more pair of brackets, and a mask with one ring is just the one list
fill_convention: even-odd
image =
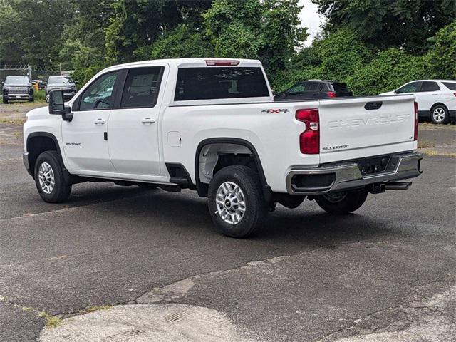
[(0, 341), (455, 341), (454, 126), (420, 128), (410, 190), (346, 217), (278, 206), (230, 239), (190, 191), (42, 202), (20, 118), (0, 123)]

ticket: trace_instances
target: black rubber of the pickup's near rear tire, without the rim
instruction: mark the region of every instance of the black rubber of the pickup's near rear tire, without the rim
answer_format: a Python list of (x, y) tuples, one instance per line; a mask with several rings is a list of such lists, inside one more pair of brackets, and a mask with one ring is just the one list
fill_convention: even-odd
[[(244, 213), (237, 223), (225, 222), (219, 214), (217, 207), (217, 192), (226, 182), (237, 185), (244, 198)], [(236, 200), (234, 199), (230, 207), (236, 205), (239, 207), (239, 204), (237, 204), (239, 202), (236, 202)], [(226, 204), (227, 202), (223, 204), (225, 209), (227, 208)], [(214, 222), (216, 229), (222, 234), (237, 238), (248, 237), (253, 234), (261, 226), (267, 214), (266, 201), (264, 200), (258, 173), (242, 165), (228, 166), (219, 170), (209, 184), (208, 207), (212, 222)]]

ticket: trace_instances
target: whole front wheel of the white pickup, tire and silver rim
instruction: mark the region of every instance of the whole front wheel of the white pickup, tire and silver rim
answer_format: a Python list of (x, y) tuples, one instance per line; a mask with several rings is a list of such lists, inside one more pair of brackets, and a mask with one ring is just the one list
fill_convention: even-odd
[(44, 202), (65, 202), (71, 193), (71, 183), (63, 177), (63, 168), (56, 151), (38, 155), (35, 163), (35, 183)]

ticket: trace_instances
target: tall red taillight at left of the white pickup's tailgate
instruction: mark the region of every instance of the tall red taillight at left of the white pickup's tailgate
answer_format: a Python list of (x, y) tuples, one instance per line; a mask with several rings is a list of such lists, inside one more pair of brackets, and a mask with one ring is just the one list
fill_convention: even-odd
[(299, 135), (299, 149), (305, 155), (318, 155), (320, 152), (320, 117), (318, 109), (300, 109), (296, 111), (296, 120), (306, 125), (306, 130)]

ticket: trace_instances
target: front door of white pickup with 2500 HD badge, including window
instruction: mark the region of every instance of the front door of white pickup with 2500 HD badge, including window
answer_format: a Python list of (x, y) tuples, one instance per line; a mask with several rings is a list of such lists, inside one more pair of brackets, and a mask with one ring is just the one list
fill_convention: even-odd
[(93, 81), (73, 104), (73, 120), (62, 123), (63, 150), (73, 171), (87, 175), (114, 171), (105, 132), (117, 80), (114, 71)]

